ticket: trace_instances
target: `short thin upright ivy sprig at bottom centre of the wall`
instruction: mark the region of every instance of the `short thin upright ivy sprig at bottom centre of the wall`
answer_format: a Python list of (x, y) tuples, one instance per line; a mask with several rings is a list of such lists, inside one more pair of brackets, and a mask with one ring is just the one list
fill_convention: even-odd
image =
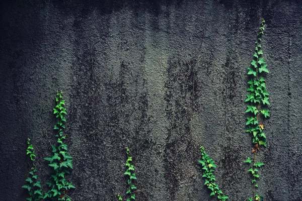
[[(127, 175), (129, 177), (128, 179), (128, 185), (129, 188), (126, 192), (126, 194), (128, 194), (128, 198), (127, 201), (131, 201), (131, 200), (135, 200), (135, 190), (137, 189), (136, 186), (133, 184), (133, 181), (136, 180), (136, 176), (134, 173), (134, 166), (131, 165), (131, 161), (132, 161), (132, 157), (129, 156), (129, 148), (126, 148), (126, 153), (127, 153), (127, 161), (126, 161), (126, 166), (127, 166), (127, 170), (125, 171), (124, 175)], [(120, 195), (120, 193), (117, 194), (118, 200), (123, 200), (122, 196)]]

